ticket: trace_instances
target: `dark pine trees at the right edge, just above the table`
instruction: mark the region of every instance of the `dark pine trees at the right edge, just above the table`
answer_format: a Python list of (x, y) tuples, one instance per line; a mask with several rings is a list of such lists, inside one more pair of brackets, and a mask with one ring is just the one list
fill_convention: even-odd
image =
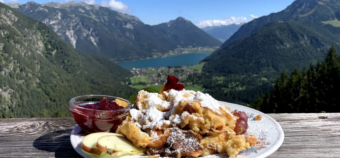
[(340, 112), (340, 57), (332, 46), (323, 62), (308, 69), (284, 70), (272, 92), (262, 94), (252, 107), (264, 113)]

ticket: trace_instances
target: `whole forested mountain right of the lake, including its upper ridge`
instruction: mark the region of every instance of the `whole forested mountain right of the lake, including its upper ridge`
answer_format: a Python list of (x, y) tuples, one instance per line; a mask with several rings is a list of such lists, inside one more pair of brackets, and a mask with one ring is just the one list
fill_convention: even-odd
[(242, 25), (219, 50), (202, 60), (208, 61), (204, 70), (279, 73), (321, 60), (331, 44), (340, 46), (340, 26), (335, 22), (339, 13), (340, 0), (297, 0), (284, 11)]

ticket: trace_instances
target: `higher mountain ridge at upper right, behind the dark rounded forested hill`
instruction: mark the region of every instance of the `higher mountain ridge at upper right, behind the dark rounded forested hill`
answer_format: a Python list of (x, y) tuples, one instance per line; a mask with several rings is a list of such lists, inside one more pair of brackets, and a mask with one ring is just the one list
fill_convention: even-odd
[(270, 22), (322, 22), (339, 27), (339, 4), (339, 0), (296, 0), (281, 12), (271, 13), (245, 23), (223, 46), (255, 33)]

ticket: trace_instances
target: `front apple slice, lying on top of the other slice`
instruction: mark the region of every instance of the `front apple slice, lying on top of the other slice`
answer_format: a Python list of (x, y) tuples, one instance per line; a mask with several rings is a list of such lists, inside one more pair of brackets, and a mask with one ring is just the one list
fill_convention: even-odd
[(129, 139), (119, 136), (100, 137), (97, 141), (97, 148), (112, 156), (143, 155), (146, 153), (146, 148), (136, 147)]

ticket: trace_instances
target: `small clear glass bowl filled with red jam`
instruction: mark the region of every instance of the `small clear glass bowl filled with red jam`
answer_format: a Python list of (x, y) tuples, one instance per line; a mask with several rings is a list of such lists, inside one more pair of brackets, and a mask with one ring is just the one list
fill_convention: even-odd
[[(119, 99), (128, 103), (128, 106), (118, 110), (95, 110), (78, 106), (95, 104), (100, 102), (104, 97), (112, 101)], [(123, 98), (105, 95), (84, 95), (72, 98), (70, 100), (69, 110), (73, 114), (74, 121), (80, 128), (88, 133), (96, 133), (115, 132), (117, 127), (125, 120), (126, 116), (128, 116), (131, 107), (131, 102)]]

